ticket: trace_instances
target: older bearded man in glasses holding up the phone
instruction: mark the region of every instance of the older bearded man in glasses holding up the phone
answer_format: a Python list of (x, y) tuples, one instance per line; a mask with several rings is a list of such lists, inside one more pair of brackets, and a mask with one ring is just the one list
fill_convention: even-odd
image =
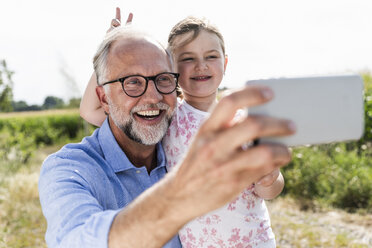
[(290, 160), (280, 145), (241, 149), (261, 136), (293, 132), (269, 117), (233, 124), (237, 109), (272, 97), (267, 88), (250, 87), (219, 102), (184, 161), (165, 176), (159, 141), (176, 105), (178, 77), (170, 56), (152, 38), (118, 28), (94, 63), (108, 118), (43, 164), (39, 191), (49, 247), (180, 247), (176, 234), (184, 224)]

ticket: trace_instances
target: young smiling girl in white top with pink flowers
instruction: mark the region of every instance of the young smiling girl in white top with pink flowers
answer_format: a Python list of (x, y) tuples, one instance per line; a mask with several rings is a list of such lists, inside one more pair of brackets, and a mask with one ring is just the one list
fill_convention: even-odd
[[(180, 73), (179, 84), (183, 95), (162, 142), (167, 157), (167, 169), (171, 170), (186, 153), (191, 138), (216, 102), (227, 56), (224, 40), (218, 29), (193, 17), (188, 17), (173, 27), (168, 45)], [(83, 98), (82, 116), (93, 124), (101, 124), (106, 116), (99, 109), (98, 99), (94, 100), (94, 105), (84, 101), (94, 98), (95, 92), (89, 91), (90, 88), (87, 87)], [(89, 111), (82, 111), (84, 108), (93, 112), (86, 114)], [(263, 199), (276, 197), (283, 185), (284, 180), (279, 170), (265, 176), (244, 190), (233, 202), (186, 224), (179, 231), (182, 246), (275, 247), (275, 237)]]

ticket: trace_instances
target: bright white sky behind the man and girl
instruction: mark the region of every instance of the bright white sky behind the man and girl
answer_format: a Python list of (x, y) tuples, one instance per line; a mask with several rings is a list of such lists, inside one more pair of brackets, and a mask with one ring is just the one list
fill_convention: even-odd
[(0, 0), (0, 60), (15, 72), (14, 100), (80, 97), (115, 7), (164, 44), (189, 15), (216, 24), (229, 58), (221, 87), (372, 72), (371, 0)]

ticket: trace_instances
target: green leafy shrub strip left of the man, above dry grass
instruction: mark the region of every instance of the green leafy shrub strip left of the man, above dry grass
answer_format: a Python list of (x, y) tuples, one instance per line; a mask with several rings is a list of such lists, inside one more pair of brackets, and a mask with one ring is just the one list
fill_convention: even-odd
[(26, 164), (37, 148), (77, 141), (90, 134), (77, 112), (48, 115), (17, 115), (0, 119), (0, 165), (8, 172)]

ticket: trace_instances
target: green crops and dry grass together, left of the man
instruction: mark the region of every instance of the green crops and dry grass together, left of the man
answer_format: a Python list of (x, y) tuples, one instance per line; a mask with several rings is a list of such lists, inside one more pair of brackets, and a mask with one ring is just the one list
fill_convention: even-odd
[(78, 109), (0, 114), (0, 247), (46, 247), (37, 189), (41, 164), (93, 130)]

